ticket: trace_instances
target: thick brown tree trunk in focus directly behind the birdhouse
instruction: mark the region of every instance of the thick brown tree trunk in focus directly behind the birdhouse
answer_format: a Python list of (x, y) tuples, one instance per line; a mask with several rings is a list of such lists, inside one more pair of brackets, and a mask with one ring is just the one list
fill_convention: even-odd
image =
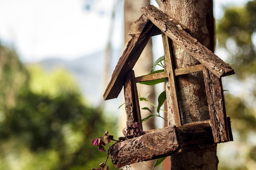
[[(212, 0), (156, 0), (160, 10), (186, 27), (186, 31), (201, 44), (213, 51)], [(191, 55), (172, 44), (174, 67), (184, 68), (199, 64)], [(202, 72), (176, 77), (177, 99), (181, 123), (210, 119)], [(191, 93), (193, 92), (193, 93)], [(192, 94), (192, 95), (191, 95)], [(168, 121), (168, 126), (175, 122)], [(166, 168), (164, 168), (166, 169)], [(218, 157), (214, 148), (185, 152), (171, 156), (171, 170), (217, 170)]]

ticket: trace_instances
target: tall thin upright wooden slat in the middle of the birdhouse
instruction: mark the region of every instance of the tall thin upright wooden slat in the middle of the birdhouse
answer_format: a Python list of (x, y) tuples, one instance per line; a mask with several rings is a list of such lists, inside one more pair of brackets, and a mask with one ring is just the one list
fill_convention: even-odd
[(176, 80), (172, 61), (173, 57), (172, 51), (170, 50), (171, 39), (169, 39), (166, 34), (162, 33), (162, 40), (164, 45), (164, 71), (168, 75), (168, 79), (165, 81), (168, 125), (181, 126), (180, 108), (178, 105)]

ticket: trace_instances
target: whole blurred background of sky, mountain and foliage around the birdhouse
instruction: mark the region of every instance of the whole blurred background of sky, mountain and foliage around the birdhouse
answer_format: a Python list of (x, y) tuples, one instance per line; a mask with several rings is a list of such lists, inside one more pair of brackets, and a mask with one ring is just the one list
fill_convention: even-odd
[[(234, 141), (218, 144), (219, 170), (255, 170), (256, 0), (213, 5), (215, 53), (236, 72), (222, 78)], [(0, 170), (82, 170), (105, 161), (91, 141), (119, 133), (122, 100), (102, 95), (124, 34), (124, 0), (0, 0)], [(163, 55), (157, 38), (153, 54)]]

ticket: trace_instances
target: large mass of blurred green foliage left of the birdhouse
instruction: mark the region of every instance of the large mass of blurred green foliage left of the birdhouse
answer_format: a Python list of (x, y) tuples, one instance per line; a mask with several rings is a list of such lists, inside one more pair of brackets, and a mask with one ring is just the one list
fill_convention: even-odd
[(25, 68), (4, 46), (0, 64), (0, 170), (85, 170), (105, 161), (91, 142), (115, 127), (86, 105), (71, 75)]

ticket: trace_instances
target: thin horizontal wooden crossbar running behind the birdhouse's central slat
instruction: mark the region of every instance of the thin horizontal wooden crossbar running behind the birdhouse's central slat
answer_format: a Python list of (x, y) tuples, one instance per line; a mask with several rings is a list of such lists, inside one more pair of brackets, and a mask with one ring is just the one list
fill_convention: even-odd
[[(195, 66), (189, 66), (186, 68), (175, 69), (174, 73), (175, 73), (175, 76), (178, 76), (178, 75), (184, 75), (184, 74), (194, 73), (194, 72), (198, 72), (198, 71), (202, 71), (202, 64), (198, 64)], [(142, 76), (136, 77), (136, 83), (146, 82), (146, 81), (156, 80), (156, 79), (162, 79), (162, 78), (167, 78), (167, 77), (168, 77), (168, 75), (165, 72), (142, 75)]]

